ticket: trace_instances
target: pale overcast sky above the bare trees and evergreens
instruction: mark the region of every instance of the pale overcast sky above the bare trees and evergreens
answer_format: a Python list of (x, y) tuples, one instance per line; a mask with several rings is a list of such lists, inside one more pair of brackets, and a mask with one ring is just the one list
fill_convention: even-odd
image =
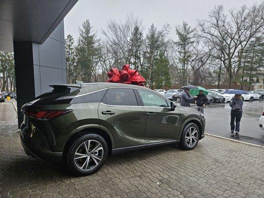
[(170, 24), (169, 37), (175, 39), (175, 25), (187, 21), (191, 26), (196, 25), (197, 19), (207, 18), (208, 12), (214, 5), (222, 4), (225, 11), (242, 5), (251, 6), (262, 0), (79, 0), (64, 18), (65, 37), (73, 35), (77, 40), (78, 26), (89, 19), (102, 37), (102, 29), (110, 19), (123, 20), (127, 13), (134, 13), (143, 20), (145, 31), (154, 23), (161, 28)]

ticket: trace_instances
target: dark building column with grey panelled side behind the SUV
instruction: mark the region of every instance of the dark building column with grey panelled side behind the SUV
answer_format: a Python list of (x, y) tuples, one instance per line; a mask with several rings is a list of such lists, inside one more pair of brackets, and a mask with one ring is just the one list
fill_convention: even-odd
[(51, 90), (49, 85), (66, 83), (63, 21), (42, 44), (13, 42), (18, 126), (23, 121), (23, 104)]

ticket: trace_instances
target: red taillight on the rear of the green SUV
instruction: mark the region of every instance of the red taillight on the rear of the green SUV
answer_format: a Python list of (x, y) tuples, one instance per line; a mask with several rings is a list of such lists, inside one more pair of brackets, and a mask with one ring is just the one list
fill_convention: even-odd
[(66, 114), (68, 112), (71, 112), (72, 110), (33, 110), (28, 109), (23, 111), (26, 115), (29, 115), (31, 117), (37, 118), (37, 119), (44, 119), (49, 120), (55, 117), (58, 117), (60, 115)]

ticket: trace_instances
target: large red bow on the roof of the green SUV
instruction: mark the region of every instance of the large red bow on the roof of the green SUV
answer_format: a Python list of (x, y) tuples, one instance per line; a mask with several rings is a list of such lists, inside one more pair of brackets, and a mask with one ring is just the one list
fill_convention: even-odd
[(140, 85), (144, 86), (144, 82), (146, 81), (143, 76), (141, 76), (137, 70), (129, 69), (130, 65), (123, 65), (121, 71), (117, 68), (112, 68), (107, 76), (109, 79), (106, 83), (124, 83), (124, 84), (132, 84), (132, 85)]

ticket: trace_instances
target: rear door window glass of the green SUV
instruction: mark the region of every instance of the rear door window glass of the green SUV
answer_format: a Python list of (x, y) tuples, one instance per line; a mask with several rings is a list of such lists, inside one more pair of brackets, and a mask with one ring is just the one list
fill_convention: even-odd
[(132, 88), (109, 88), (102, 102), (117, 106), (138, 106), (136, 95)]

